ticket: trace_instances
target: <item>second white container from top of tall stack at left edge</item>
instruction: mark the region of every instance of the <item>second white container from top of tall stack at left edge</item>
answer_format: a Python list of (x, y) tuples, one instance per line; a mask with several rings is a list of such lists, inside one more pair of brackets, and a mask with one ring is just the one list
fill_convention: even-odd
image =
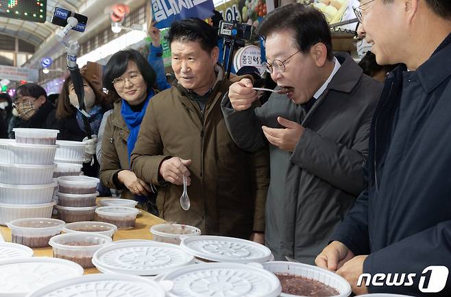
[(0, 143), (0, 163), (51, 165), (58, 145), (33, 145), (12, 142)]

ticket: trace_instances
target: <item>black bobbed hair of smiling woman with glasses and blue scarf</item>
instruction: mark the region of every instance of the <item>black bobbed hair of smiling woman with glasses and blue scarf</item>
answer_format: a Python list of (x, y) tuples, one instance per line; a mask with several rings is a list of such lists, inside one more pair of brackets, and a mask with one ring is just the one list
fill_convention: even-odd
[(119, 94), (114, 88), (112, 81), (115, 78), (119, 78), (128, 67), (128, 62), (133, 61), (138, 66), (139, 72), (143, 75), (145, 82), (147, 83), (147, 93), (151, 90), (156, 80), (156, 73), (150, 66), (149, 62), (135, 49), (125, 49), (118, 51), (112, 55), (110, 60), (106, 63), (105, 71), (103, 71), (103, 88), (108, 90), (108, 97), (111, 102), (120, 99)]

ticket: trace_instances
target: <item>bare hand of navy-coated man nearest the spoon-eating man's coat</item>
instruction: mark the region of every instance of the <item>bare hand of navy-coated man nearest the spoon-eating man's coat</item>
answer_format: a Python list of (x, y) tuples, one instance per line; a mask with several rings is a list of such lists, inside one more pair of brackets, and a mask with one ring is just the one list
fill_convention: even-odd
[(354, 258), (354, 253), (340, 241), (332, 241), (315, 259), (318, 267), (337, 271), (344, 263)]

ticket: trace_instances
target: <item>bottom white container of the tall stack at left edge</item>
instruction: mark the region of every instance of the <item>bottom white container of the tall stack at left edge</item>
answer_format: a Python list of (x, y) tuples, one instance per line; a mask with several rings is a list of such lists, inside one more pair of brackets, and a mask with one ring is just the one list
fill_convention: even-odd
[(0, 225), (28, 217), (50, 218), (55, 201), (45, 204), (0, 204)]

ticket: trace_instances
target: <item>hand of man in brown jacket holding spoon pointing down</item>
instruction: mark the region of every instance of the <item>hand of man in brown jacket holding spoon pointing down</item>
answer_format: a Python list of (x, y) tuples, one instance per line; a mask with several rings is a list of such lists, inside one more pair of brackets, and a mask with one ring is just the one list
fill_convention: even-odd
[(186, 185), (191, 185), (190, 172), (186, 166), (191, 165), (191, 160), (172, 157), (164, 160), (160, 165), (160, 176), (174, 185), (183, 185), (183, 176), (186, 176)]

